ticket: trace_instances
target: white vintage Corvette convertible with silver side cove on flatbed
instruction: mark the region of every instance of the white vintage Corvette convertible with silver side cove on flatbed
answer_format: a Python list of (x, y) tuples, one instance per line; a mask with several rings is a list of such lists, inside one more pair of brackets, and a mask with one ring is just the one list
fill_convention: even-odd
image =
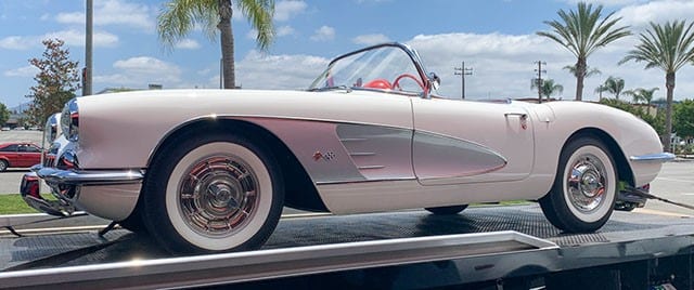
[(609, 219), (619, 183), (663, 161), (637, 117), (580, 102), (467, 102), (411, 48), (331, 62), (308, 91), (172, 90), (77, 97), (34, 168), (64, 206), (146, 230), (171, 252), (260, 247), (282, 208), (336, 214), (539, 200), (566, 232)]

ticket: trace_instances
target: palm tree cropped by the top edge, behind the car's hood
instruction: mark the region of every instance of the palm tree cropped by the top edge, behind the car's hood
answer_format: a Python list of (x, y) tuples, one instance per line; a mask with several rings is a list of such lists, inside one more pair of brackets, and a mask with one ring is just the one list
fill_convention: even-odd
[[(236, 5), (257, 31), (258, 48), (267, 50), (274, 38), (274, 0), (239, 0)], [(234, 89), (236, 77), (232, 13), (231, 0), (171, 0), (157, 17), (159, 39), (166, 47), (172, 48), (196, 25), (202, 25), (210, 39), (215, 39), (219, 30), (224, 89)]]

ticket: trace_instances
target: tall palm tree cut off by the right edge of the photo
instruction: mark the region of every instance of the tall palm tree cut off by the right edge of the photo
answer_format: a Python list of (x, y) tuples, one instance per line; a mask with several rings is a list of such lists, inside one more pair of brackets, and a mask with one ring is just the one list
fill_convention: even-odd
[(665, 25), (651, 23), (651, 28), (639, 37), (641, 42), (627, 53), (619, 64), (634, 61), (644, 62), (645, 68), (658, 67), (665, 71), (667, 105), (665, 110), (665, 134), (660, 136), (666, 150), (670, 150), (670, 133), (672, 132), (672, 95), (677, 70), (687, 63), (694, 62), (694, 23), (686, 21), (667, 22)]

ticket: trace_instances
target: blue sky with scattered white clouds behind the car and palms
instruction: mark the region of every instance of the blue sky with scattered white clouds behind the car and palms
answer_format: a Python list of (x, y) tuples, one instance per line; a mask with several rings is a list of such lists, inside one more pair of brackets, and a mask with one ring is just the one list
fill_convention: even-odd
[[(219, 42), (193, 31), (174, 50), (156, 36), (156, 16), (165, 1), (94, 0), (94, 91), (105, 88), (218, 88)], [(244, 89), (303, 89), (337, 54), (383, 41), (407, 42), (417, 49), (427, 68), (442, 79), (440, 93), (461, 94), (453, 67), (465, 62), (468, 98), (534, 96), (532, 64), (547, 63), (547, 78), (564, 85), (571, 98), (575, 79), (562, 67), (576, 60), (565, 49), (535, 35), (548, 30), (560, 9), (577, 0), (278, 0), (278, 36), (267, 53), (256, 50), (253, 31), (237, 13), (233, 21), (236, 82)], [(634, 35), (648, 22), (694, 21), (691, 0), (594, 0), (606, 12), (622, 17)], [(36, 70), (28, 64), (43, 51), (41, 40), (66, 41), (70, 58), (83, 64), (83, 0), (0, 1), (0, 102), (25, 103)], [(593, 90), (607, 77), (621, 77), (626, 89), (660, 88), (665, 75), (641, 64), (618, 66), (637, 37), (597, 51), (589, 66), (602, 75), (587, 79), (584, 100), (597, 100)], [(694, 66), (678, 74), (676, 98), (694, 97)]]

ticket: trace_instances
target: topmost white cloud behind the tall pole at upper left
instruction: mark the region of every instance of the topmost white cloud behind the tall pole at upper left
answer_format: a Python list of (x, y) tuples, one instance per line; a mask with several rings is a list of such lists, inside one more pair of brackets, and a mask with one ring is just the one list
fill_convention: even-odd
[[(128, 26), (154, 31), (154, 16), (147, 5), (126, 0), (94, 1), (94, 26)], [(63, 24), (85, 24), (85, 12), (59, 13), (55, 21)]]

